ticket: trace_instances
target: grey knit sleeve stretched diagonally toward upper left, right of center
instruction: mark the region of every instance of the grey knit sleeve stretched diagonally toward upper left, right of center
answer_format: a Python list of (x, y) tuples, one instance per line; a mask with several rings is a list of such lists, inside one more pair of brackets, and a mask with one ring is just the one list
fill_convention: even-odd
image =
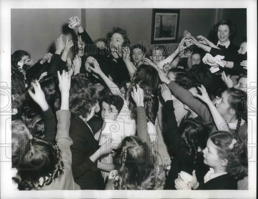
[(168, 88), (178, 97), (184, 104), (186, 104), (190, 109), (197, 113), (203, 122), (207, 124), (212, 120), (212, 116), (209, 112), (208, 107), (200, 102), (198, 99), (193, 97), (192, 93), (183, 87), (179, 86), (174, 81), (168, 84)]

